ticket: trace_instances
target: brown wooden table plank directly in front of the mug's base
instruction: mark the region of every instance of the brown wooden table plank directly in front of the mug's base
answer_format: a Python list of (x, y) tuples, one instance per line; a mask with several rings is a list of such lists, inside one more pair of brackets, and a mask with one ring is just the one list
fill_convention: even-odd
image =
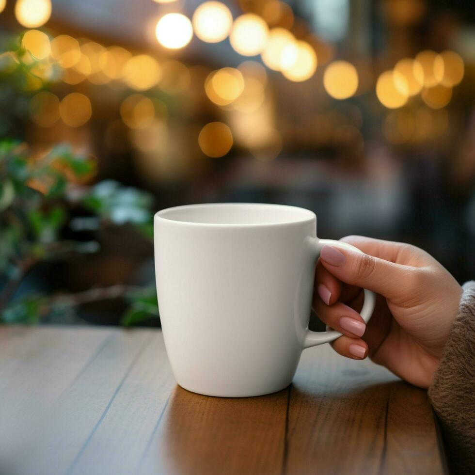
[(143, 473), (280, 474), (287, 396), (219, 398), (176, 387)]

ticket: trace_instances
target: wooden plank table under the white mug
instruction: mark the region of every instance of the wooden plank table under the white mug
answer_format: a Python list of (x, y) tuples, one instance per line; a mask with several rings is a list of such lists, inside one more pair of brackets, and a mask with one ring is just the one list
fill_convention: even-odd
[(425, 391), (306, 349), (293, 384), (176, 385), (161, 332), (0, 327), (0, 474), (440, 474)]

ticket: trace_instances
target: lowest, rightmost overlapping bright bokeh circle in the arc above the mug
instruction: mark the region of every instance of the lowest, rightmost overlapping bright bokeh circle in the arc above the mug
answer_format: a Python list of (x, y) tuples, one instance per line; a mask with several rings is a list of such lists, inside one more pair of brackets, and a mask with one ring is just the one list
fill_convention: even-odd
[(306, 81), (317, 69), (317, 54), (306, 41), (285, 47), (281, 59), (282, 74), (291, 81)]

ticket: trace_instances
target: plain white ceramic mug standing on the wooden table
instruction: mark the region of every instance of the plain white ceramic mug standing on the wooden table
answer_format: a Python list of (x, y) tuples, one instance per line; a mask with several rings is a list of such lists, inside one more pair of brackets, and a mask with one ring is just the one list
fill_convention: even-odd
[[(180, 386), (208, 396), (259, 396), (292, 381), (304, 348), (340, 333), (308, 329), (317, 217), (294, 206), (177, 206), (155, 215), (160, 319)], [(375, 296), (364, 291), (368, 321)]]

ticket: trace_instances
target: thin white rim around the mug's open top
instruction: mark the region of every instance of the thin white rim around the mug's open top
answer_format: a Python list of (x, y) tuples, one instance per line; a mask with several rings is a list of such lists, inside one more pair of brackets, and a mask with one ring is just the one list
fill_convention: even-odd
[[(295, 211), (296, 214), (300, 213), (302, 215), (301, 219), (295, 219), (292, 221), (282, 221), (282, 222), (249, 222), (249, 223), (220, 223), (220, 222), (196, 222), (196, 221), (183, 221), (168, 218), (163, 216), (164, 214), (173, 212), (175, 210), (186, 210), (186, 209), (198, 209), (206, 207), (252, 207), (252, 206), (262, 206), (270, 207), (273, 209), (286, 209)], [(305, 216), (306, 215), (306, 216)], [(233, 228), (247, 228), (247, 227), (278, 227), (278, 226), (299, 226), (302, 224), (307, 224), (310, 222), (317, 222), (317, 215), (310, 211), (309, 209), (302, 208), (300, 206), (291, 206), (291, 205), (279, 205), (273, 203), (199, 203), (193, 205), (181, 205), (181, 206), (172, 206), (169, 208), (164, 208), (154, 215), (154, 221), (169, 222), (177, 225), (184, 226), (204, 226), (204, 227), (233, 227)]]

